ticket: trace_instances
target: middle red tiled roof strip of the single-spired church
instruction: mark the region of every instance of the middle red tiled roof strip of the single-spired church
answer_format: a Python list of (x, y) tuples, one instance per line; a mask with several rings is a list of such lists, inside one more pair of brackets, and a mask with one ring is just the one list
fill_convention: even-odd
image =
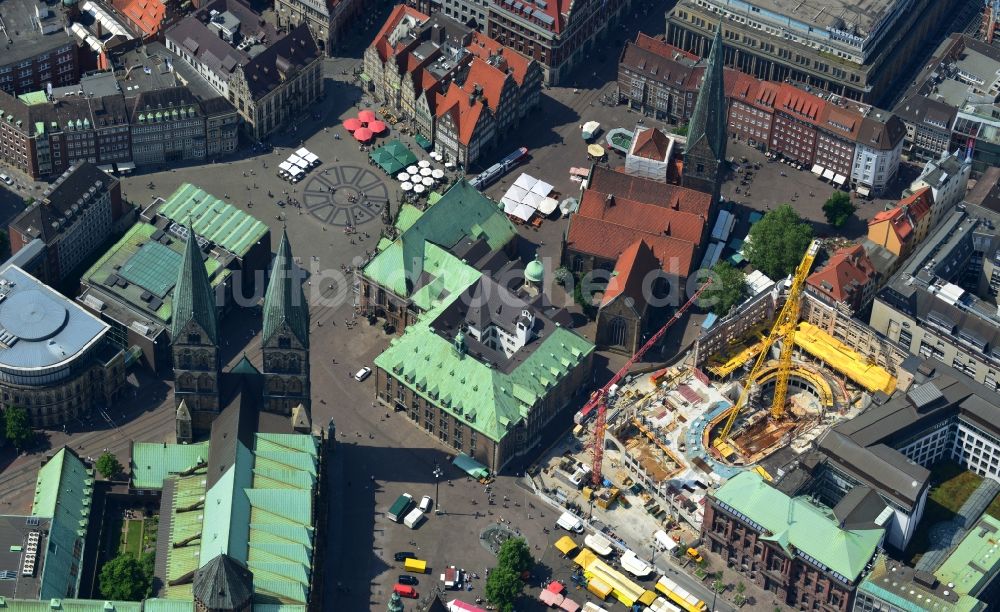
[(583, 192), (577, 216), (599, 219), (648, 234), (673, 236), (695, 244), (701, 241), (705, 228), (705, 220), (698, 215), (609, 196), (595, 189)]

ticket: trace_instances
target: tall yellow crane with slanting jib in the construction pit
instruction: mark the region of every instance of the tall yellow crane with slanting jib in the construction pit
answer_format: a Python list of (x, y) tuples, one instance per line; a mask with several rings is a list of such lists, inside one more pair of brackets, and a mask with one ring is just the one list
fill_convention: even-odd
[(758, 373), (767, 361), (771, 347), (779, 339), (781, 340), (781, 353), (778, 357), (778, 377), (774, 383), (771, 416), (779, 418), (784, 414), (785, 396), (788, 394), (788, 374), (792, 369), (795, 328), (799, 323), (799, 309), (802, 304), (802, 286), (805, 285), (806, 277), (809, 276), (809, 270), (812, 268), (813, 261), (815, 261), (818, 252), (819, 241), (813, 240), (809, 244), (809, 248), (806, 249), (806, 254), (802, 256), (799, 266), (795, 269), (795, 275), (792, 276), (792, 286), (788, 289), (788, 298), (785, 300), (785, 305), (781, 308), (781, 312), (778, 313), (778, 318), (775, 319), (774, 326), (771, 327), (771, 333), (764, 339), (760, 354), (757, 355), (753, 369), (750, 370), (746, 384), (743, 385), (743, 391), (740, 393), (736, 404), (730, 409), (726, 424), (723, 425), (722, 431), (719, 432), (719, 436), (715, 439), (714, 444), (716, 447), (727, 443), (729, 432), (733, 429), (733, 423), (736, 422), (736, 417), (739, 416), (740, 411), (746, 406), (747, 398), (750, 396), (750, 389), (753, 387)]

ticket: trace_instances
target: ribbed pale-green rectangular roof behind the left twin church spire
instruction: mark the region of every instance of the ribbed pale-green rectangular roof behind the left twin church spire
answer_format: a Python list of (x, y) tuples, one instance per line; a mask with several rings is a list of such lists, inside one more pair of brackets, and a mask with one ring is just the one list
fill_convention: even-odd
[(178, 187), (157, 212), (175, 223), (193, 225), (199, 236), (238, 257), (246, 255), (268, 233), (256, 217), (190, 183)]

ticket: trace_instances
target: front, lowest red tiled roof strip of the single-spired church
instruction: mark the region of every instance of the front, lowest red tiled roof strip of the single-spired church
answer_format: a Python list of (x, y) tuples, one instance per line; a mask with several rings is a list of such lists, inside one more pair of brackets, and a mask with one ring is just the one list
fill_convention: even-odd
[(600, 219), (574, 215), (566, 236), (566, 248), (617, 261), (618, 257), (637, 239), (644, 240), (670, 274), (686, 277), (694, 262), (694, 243), (672, 236), (658, 236)]

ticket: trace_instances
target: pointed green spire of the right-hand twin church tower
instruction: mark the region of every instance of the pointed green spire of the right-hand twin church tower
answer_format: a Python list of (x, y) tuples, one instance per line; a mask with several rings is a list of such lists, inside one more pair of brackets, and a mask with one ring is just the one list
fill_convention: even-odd
[(271, 279), (264, 295), (264, 333), (261, 344), (287, 325), (302, 346), (309, 346), (309, 304), (302, 292), (302, 278), (297, 273), (288, 234), (281, 230), (281, 243), (271, 267)]

